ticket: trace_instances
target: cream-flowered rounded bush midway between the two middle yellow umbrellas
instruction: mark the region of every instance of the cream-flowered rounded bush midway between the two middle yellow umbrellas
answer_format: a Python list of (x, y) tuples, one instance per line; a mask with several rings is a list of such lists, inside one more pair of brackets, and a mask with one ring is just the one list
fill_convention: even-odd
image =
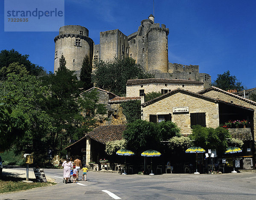
[(186, 149), (193, 145), (190, 138), (184, 136), (172, 137), (171, 139), (169, 139), (169, 142), (169, 148), (176, 152), (185, 152)]

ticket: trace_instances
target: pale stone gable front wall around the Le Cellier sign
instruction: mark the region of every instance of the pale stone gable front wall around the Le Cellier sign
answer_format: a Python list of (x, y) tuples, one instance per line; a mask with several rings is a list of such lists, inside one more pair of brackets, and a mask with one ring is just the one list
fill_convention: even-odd
[[(189, 112), (173, 113), (173, 107), (189, 107)], [(142, 110), (142, 119), (146, 121), (149, 121), (150, 115), (171, 114), (172, 122), (181, 129), (182, 134), (192, 133), (191, 113), (205, 113), (207, 127), (219, 126), (218, 102), (186, 90), (176, 90), (151, 102), (148, 101), (142, 104)]]

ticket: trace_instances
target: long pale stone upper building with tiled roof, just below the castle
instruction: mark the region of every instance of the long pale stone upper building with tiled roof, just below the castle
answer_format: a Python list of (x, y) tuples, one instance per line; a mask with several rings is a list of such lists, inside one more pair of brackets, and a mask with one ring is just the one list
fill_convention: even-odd
[(126, 96), (140, 96), (140, 90), (144, 90), (144, 93), (151, 92), (170, 92), (181, 88), (183, 90), (189, 90), (197, 93), (204, 89), (204, 83), (191, 80), (173, 80), (173, 79), (160, 79), (160, 78), (148, 78), (138, 80), (128, 80), (126, 84)]

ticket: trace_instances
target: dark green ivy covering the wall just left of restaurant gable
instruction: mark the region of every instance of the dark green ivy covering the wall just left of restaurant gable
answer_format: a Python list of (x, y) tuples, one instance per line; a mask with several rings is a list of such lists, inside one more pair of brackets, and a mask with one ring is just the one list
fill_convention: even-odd
[(125, 101), (122, 102), (121, 107), (128, 123), (140, 119), (140, 101)]

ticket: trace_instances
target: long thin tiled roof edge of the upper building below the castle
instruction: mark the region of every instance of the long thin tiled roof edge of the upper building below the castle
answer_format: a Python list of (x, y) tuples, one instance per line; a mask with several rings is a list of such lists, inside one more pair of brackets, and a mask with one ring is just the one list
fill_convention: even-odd
[(168, 78), (146, 78), (146, 79), (128, 80), (126, 85), (149, 84), (149, 83), (202, 84), (202, 85), (204, 84), (203, 82), (193, 81), (193, 80), (168, 79)]

